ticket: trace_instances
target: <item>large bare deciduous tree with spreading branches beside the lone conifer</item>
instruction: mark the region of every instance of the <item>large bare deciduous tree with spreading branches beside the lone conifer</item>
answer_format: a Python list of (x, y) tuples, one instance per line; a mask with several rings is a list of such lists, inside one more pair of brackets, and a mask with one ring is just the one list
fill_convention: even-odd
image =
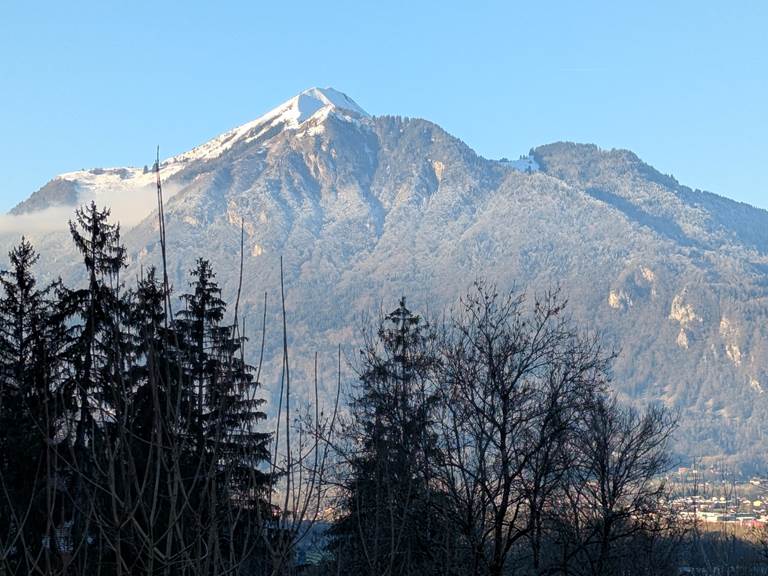
[(502, 574), (523, 539), (538, 565), (574, 420), (605, 384), (609, 358), (564, 306), (557, 291), (527, 309), (522, 296), (478, 283), (446, 326), (440, 480), (472, 574)]

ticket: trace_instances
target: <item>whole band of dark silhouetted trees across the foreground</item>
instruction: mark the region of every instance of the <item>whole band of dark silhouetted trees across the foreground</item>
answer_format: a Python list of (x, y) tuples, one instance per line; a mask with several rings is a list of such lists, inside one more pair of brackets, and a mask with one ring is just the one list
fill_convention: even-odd
[(317, 380), (291, 395), (281, 294), (267, 407), (265, 326), (249, 344), (204, 259), (176, 294), (159, 223), (163, 263), (132, 282), (93, 203), (70, 223), (84, 285), (39, 286), (25, 239), (9, 254), (0, 575), (678, 572), (696, 527), (664, 482), (676, 419), (614, 398), (613, 353), (558, 290), (478, 281), (432, 319), (402, 298), (350, 382), (339, 351), (331, 406)]

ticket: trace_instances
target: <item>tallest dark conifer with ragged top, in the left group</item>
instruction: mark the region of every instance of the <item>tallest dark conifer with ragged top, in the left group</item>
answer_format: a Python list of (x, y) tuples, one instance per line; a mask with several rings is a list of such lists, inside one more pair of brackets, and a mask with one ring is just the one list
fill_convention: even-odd
[(127, 305), (120, 292), (126, 253), (120, 226), (110, 223), (109, 216), (109, 209), (99, 209), (94, 202), (76, 210), (69, 228), (83, 257), (88, 285), (74, 290), (62, 287), (59, 296), (59, 314), (68, 325), (70, 375), (65, 395), (74, 417), (66, 526), (71, 526), (73, 545), (81, 548), (83, 543), (92, 542), (87, 526), (91, 520), (88, 516), (94, 514), (96, 495), (109, 494), (96, 489), (109, 482), (104, 477), (106, 463), (98, 460), (108, 458), (106, 451), (112, 446), (107, 437), (114, 436), (116, 422), (126, 410)]

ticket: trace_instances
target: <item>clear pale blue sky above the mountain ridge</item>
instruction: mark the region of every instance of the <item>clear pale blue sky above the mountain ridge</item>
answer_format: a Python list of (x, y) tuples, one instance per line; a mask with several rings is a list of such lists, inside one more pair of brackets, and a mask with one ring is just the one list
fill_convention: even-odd
[(480, 154), (629, 148), (768, 208), (768, 2), (0, 0), (0, 212), (150, 164), (311, 86)]

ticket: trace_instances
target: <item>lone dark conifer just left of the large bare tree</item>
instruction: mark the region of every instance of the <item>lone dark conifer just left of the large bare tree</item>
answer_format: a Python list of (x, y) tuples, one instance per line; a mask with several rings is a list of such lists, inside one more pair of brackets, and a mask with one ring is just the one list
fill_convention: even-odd
[(445, 527), (430, 486), (437, 454), (431, 343), (403, 298), (361, 352), (350, 427), (356, 453), (331, 544), (345, 574), (443, 573), (432, 557)]

